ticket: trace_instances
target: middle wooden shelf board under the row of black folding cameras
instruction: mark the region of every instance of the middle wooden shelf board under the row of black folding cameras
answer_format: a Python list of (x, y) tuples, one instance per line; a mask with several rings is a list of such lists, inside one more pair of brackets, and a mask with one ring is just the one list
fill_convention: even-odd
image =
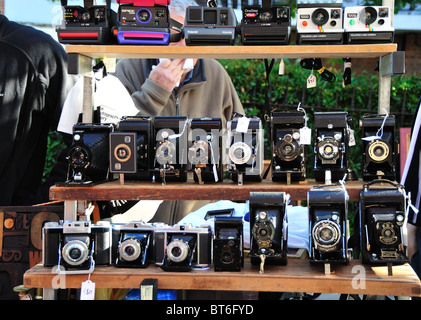
[[(120, 184), (118, 180), (105, 182), (93, 187), (58, 187), (50, 188), (51, 200), (248, 200), (250, 192), (280, 192), (285, 191), (291, 200), (306, 200), (307, 191), (317, 183), (306, 180), (299, 183), (272, 182), (245, 182), (238, 185), (232, 181), (223, 181), (214, 184), (198, 184), (194, 182), (160, 182), (125, 181)], [(358, 201), (363, 182), (348, 181), (345, 187), (349, 199)]]

